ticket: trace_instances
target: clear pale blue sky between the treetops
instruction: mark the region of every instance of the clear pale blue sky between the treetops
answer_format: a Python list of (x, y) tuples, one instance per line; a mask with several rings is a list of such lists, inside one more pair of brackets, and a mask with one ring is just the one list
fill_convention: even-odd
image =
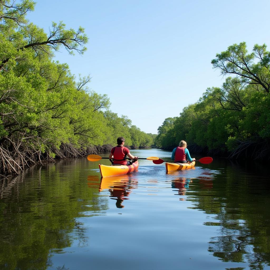
[(89, 37), (83, 56), (62, 49), (55, 60), (77, 77), (90, 74), (89, 88), (108, 95), (110, 110), (147, 133), (157, 133), (207, 87), (222, 85), (211, 65), (216, 53), (243, 41), (249, 51), (270, 45), (269, 0), (36, 2), (28, 18), (47, 33), (52, 21), (63, 21)]

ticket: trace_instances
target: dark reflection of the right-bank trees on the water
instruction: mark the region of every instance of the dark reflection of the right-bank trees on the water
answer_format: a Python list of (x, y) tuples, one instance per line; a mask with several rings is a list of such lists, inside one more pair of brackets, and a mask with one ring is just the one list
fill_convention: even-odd
[(269, 181), (260, 182), (259, 177), (248, 177), (246, 172), (229, 167), (214, 177), (204, 172), (191, 188), (196, 192), (188, 197), (194, 202), (193, 209), (216, 220), (204, 223), (217, 226), (217, 235), (211, 237), (208, 247), (214, 257), (224, 262), (248, 262), (253, 270), (270, 265), (270, 211), (265, 207), (270, 203)]

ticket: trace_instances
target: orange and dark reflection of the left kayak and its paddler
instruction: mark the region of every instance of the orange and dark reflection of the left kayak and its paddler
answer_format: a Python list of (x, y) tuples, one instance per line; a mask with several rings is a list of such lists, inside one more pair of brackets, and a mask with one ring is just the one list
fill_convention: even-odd
[(105, 177), (100, 181), (99, 192), (109, 190), (110, 198), (116, 200), (116, 207), (123, 208), (123, 201), (129, 199), (127, 197), (137, 185), (137, 179), (129, 175)]

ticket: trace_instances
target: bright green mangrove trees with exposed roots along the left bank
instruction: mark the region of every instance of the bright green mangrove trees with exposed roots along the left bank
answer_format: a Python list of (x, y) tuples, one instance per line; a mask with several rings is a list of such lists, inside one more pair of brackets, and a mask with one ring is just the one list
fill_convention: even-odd
[(54, 61), (61, 47), (83, 54), (84, 29), (52, 23), (49, 33), (26, 20), (35, 3), (0, 0), (0, 176), (52, 158), (109, 151), (116, 138), (150, 147), (153, 136), (109, 110), (107, 95), (89, 91), (90, 76), (75, 78)]

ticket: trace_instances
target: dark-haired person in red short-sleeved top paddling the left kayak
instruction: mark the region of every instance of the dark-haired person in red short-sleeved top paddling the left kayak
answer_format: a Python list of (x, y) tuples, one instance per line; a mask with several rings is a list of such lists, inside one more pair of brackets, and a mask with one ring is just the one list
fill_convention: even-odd
[(132, 161), (127, 161), (127, 156), (131, 159), (137, 160), (139, 157), (130, 154), (129, 149), (124, 147), (124, 137), (117, 138), (117, 146), (113, 147), (109, 158), (113, 158), (113, 165), (130, 165)]

